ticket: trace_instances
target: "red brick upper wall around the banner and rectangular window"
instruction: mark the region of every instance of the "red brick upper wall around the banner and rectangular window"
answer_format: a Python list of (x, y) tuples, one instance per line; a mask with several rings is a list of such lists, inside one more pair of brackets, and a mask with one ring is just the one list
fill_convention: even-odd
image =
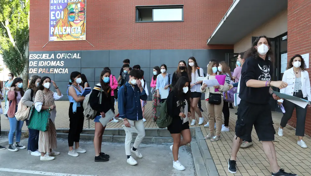
[[(184, 22), (135, 23), (135, 6), (184, 5)], [(87, 0), (86, 41), (49, 42), (49, 1), (30, 1), (30, 51), (233, 49), (209, 45), (232, 0)]]

